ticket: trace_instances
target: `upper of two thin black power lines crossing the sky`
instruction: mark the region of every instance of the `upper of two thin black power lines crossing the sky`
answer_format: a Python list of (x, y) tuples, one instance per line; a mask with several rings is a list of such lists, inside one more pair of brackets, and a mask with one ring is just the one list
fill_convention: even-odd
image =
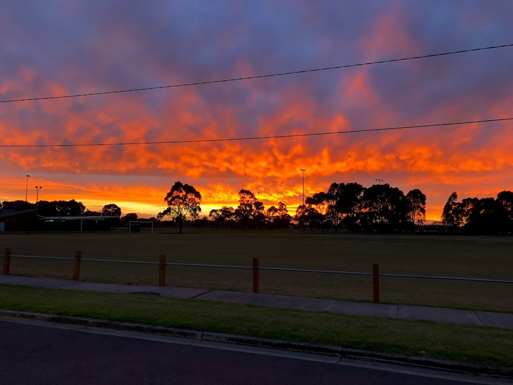
[(464, 49), (464, 50), (461, 50), (461, 51), (432, 53), (432, 54), (429, 54), (429, 55), (402, 57), (401, 59), (380, 60), (380, 61), (377, 61), (377, 62), (347, 64), (347, 65), (336, 66), (336, 67), (314, 68), (314, 69), (306, 69), (306, 70), (302, 70), (302, 71), (291, 71), (291, 72), (271, 73), (271, 74), (267, 74), (267, 75), (246, 76), (245, 78), (210, 80), (210, 81), (206, 81), (206, 82), (183, 83), (183, 84), (173, 84), (173, 85), (168, 85), (168, 86), (133, 88), (133, 89), (116, 90), (116, 91), (80, 93), (80, 94), (74, 94), (74, 95), (61, 95), (61, 96), (56, 96), (56, 97), (11, 99), (11, 100), (2, 100), (2, 101), (0, 101), (0, 103), (27, 102), (27, 101), (34, 101), (34, 100), (63, 99), (63, 98), (77, 98), (77, 97), (94, 96), (94, 95), (106, 95), (106, 94), (110, 94), (110, 93), (148, 91), (148, 90), (163, 89), (163, 88), (197, 86), (197, 85), (201, 85), (201, 84), (226, 83), (226, 82), (235, 82), (235, 81), (240, 81), (240, 80), (271, 78), (272, 76), (293, 75), (293, 74), (298, 74), (298, 73), (326, 71), (326, 70), (331, 70), (331, 69), (340, 69), (340, 68), (349, 68), (349, 67), (360, 67), (360, 66), (367, 66), (367, 65), (371, 65), (371, 64), (401, 62), (401, 61), (406, 61), (406, 60), (424, 59), (425, 57), (444, 56), (444, 55), (452, 55), (452, 54), (456, 54), (456, 53), (484, 51), (484, 50), (487, 50), (487, 49), (505, 48), (505, 47), (513, 47), (513, 44), (504, 44), (504, 45), (500, 45), (500, 46), (490, 46), (490, 47), (483, 47), (483, 48)]

